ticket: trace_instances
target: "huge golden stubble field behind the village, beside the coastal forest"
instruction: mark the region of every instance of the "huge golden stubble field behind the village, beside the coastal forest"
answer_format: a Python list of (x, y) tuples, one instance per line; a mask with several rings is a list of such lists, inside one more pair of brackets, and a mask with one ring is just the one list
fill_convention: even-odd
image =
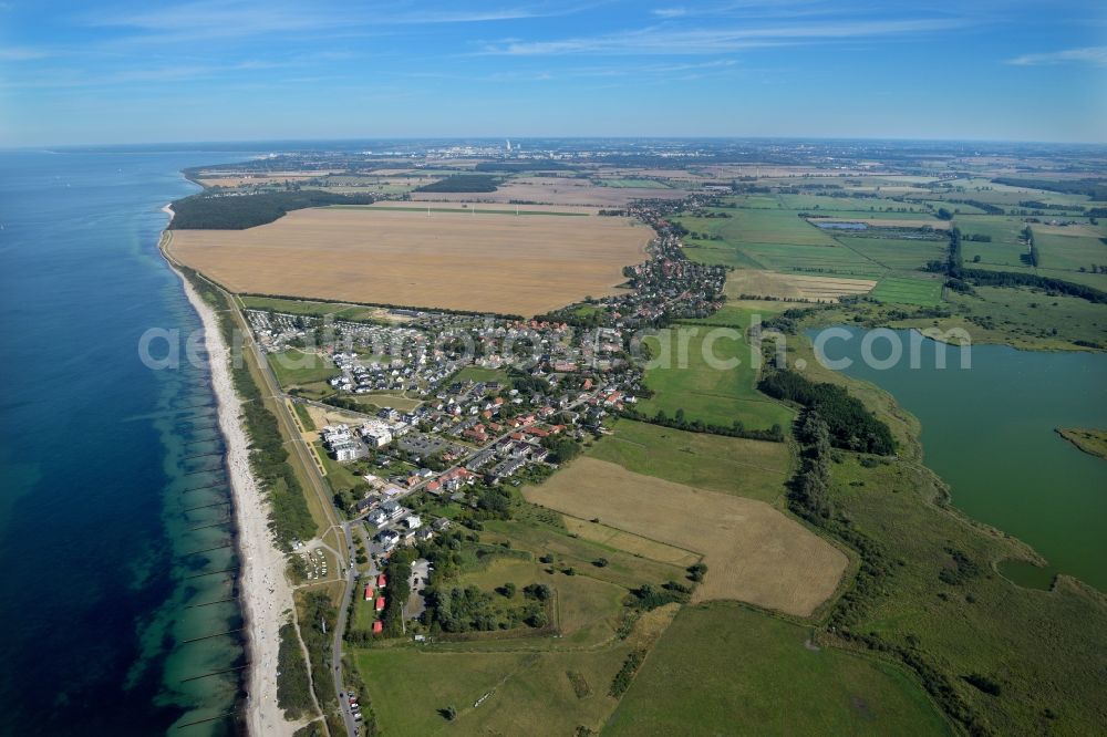
[(235, 292), (532, 315), (618, 293), (653, 231), (612, 217), (320, 208), (172, 233), (174, 258)]

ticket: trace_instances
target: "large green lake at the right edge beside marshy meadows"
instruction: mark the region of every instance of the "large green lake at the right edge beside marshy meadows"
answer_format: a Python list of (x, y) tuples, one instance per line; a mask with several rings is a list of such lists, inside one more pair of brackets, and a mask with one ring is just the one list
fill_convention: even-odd
[[(1107, 428), (1107, 355), (977, 345), (965, 370), (959, 347), (927, 340), (912, 369), (909, 332), (888, 331), (903, 357), (878, 370), (861, 361), (863, 332), (846, 330), (849, 339), (827, 341), (826, 356), (851, 359), (842, 373), (889, 392), (921, 421), (925, 463), (951, 486), (954, 505), (1049, 562), (1045, 571), (1007, 564), (1001, 572), (1032, 587), (1068, 573), (1107, 591), (1107, 460), (1055, 432)], [(935, 367), (939, 353), (944, 370)], [(877, 341), (871, 354), (887, 357), (888, 341)]]

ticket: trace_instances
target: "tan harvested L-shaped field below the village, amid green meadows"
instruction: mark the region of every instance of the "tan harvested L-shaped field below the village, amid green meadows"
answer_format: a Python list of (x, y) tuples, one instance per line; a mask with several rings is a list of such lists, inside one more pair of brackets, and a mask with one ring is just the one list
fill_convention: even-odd
[(694, 550), (707, 577), (694, 601), (737, 599), (798, 616), (835, 591), (845, 553), (763, 501), (694, 489), (579, 458), (529, 501), (581, 519)]

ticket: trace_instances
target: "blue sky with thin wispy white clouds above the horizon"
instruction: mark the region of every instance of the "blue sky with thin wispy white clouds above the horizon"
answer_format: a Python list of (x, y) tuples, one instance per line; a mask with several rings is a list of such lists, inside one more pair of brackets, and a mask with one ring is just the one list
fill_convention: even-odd
[(1107, 142), (1103, 0), (0, 0), (0, 146)]

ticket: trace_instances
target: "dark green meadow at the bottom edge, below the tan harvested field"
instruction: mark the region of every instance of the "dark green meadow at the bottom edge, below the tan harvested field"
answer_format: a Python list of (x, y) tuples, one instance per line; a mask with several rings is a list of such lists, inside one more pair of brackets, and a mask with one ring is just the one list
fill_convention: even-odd
[(603, 734), (953, 734), (906, 672), (809, 648), (808, 636), (806, 627), (736, 604), (686, 608)]

